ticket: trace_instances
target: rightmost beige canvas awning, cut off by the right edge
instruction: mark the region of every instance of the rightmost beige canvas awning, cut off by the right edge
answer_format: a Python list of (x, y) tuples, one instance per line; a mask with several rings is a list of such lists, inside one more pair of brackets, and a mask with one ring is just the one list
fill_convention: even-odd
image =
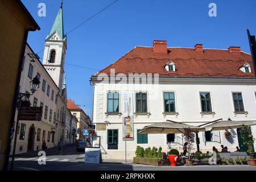
[(200, 125), (205, 131), (216, 131), (216, 130), (232, 130), (243, 127), (245, 125), (253, 126), (256, 125), (256, 121), (214, 121)]

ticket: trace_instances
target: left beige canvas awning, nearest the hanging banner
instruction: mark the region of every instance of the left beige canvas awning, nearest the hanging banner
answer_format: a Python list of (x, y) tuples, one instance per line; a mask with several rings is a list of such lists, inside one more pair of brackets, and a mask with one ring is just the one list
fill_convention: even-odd
[(197, 133), (205, 131), (204, 128), (198, 126), (187, 125), (181, 122), (175, 122), (167, 120), (167, 122), (159, 122), (152, 125), (143, 127), (138, 134), (175, 134), (184, 133), (184, 128), (189, 128), (193, 132)]

